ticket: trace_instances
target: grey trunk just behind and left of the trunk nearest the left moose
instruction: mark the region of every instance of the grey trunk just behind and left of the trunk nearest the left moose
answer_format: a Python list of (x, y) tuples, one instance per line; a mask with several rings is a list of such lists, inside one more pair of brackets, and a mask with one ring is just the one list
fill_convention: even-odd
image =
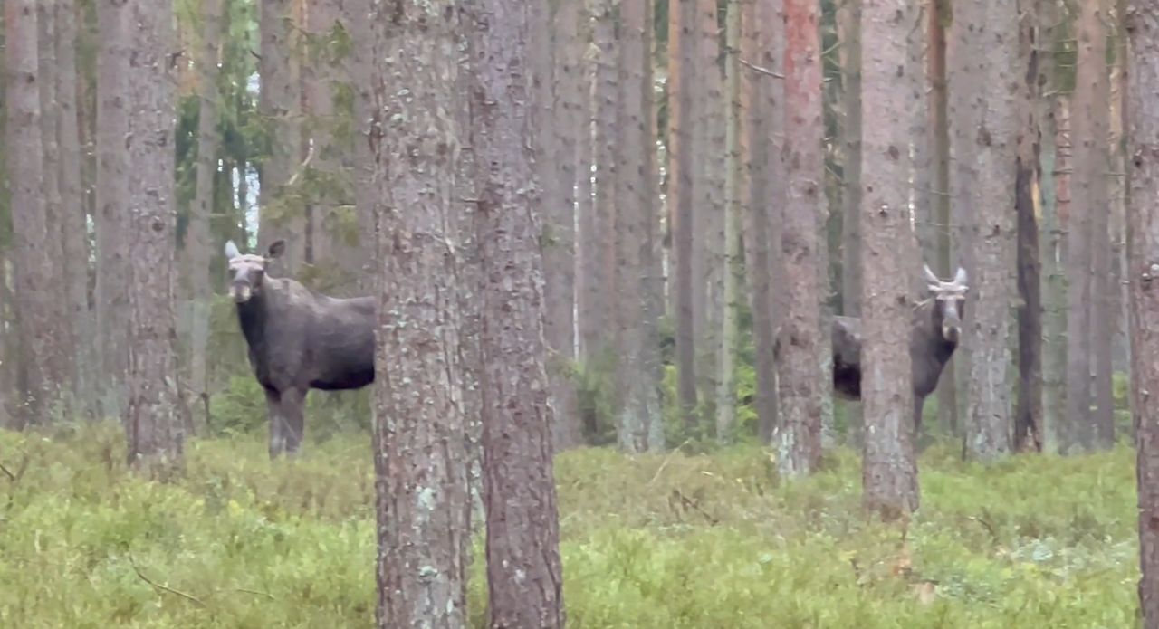
[(96, 335), (101, 348), (101, 414), (124, 419), (129, 370), (129, 10), (119, 0), (96, 7)]

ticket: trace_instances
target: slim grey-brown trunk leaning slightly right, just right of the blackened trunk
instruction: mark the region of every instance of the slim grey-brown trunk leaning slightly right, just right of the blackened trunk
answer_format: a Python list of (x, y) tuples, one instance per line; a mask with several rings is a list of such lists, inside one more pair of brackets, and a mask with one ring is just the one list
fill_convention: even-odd
[[(1101, 298), (1102, 281), (1092, 273), (1093, 262), (1103, 262), (1101, 253), (1095, 261), (1095, 250), (1101, 249), (1107, 237), (1107, 221), (1102, 220), (1107, 207), (1107, 154), (1103, 142), (1107, 138), (1107, 80), (1106, 38), (1102, 20), (1106, 17), (1103, 1), (1084, 2), (1080, 6), (1078, 28), (1078, 57), (1072, 101), (1071, 141), (1074, 146), (1074, 181), (1070, 221), (1066, 229), (1066, 424), (1062, 444), (1065, 449), (1092, 448), (1101, 441), (1101, 415), (1092, 414), (1098, 402), (1092, 382), (1092, 357), (1099, 348), (1093, 348), (1095, 330), (1101, 323), (1095, 315), (1100, 310), (1093, 301)], [(1100, 210), (1095, 210), (1095, 209)], [(1099, 219), (1094, 219), (1094, 213)], [(1098, 224), (1099, 229), (1096, 229)], [(1101, 264), (1100, 264), (1101, 266)], [(1102, 334), (1099, 334), (1101, 339)], [(1108, 339), (1109, 341), (1109, 339)], [(1098, 358), (1095, 358), (1098, 367)]]

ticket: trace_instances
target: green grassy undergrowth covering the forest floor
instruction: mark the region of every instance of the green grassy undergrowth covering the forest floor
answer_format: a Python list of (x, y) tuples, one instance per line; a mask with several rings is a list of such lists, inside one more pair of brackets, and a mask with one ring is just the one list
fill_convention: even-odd
[[(129, 473), (122, 441), (108, 426), (0, 432), (0, 627), (371, 627), (365, 434), (274, 463), (257, 436), (195, 441), (170, 485)], [(904, 536), (861, 517), (848, 451), (794, 483), (749, 446), (563, 453), (569, 627), (1136, 626), (1129, 447), (989, 467), (954, 451), (923, 455)], [(484, 601), (475, 562), (475, 627)]]

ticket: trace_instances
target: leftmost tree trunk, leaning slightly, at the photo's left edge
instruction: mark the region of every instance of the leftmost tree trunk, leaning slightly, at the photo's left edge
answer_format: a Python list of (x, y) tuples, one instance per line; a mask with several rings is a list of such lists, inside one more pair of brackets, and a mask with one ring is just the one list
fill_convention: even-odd
[(45, 225), (41, 80), (37, 63), (36, 5), (5, 1), (5, 124), (13, 226), (15, 313), (21, 341), (16, 409), (22, 425), (49, 420), (63, 373), (60, 337), (53, 327), (51, 250)]

